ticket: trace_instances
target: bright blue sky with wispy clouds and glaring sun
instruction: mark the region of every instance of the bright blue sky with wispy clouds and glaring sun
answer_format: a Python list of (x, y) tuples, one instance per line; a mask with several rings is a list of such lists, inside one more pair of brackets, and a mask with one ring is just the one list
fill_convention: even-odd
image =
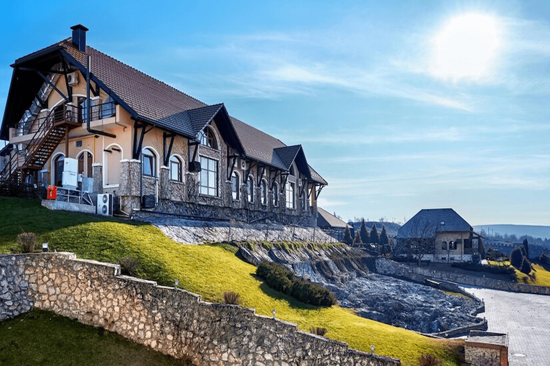
[(548, 1), (37, 4), (2, 5), (2, 115), (9, 65), (81, 23), (89, 45), (303, 145), (345, 220), (452, 207), (550, 225)]

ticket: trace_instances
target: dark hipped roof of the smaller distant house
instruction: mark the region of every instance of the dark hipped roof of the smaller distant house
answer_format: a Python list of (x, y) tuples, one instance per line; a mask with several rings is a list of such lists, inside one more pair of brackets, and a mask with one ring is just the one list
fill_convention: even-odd
[(407, 221), (397, 232), (398, 239), (430, 237), (436, 232), (472, 231), (452, 208), (422, 209)]

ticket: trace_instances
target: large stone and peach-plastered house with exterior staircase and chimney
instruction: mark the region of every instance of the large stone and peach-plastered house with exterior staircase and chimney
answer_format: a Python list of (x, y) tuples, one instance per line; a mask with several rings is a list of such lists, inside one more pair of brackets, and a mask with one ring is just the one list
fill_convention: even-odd
[(122, 213), (315, 224), (327, 182), (301, 145), (87, 46), (86, 31), (12, 65), (0, 184), (61, 186), (73, 158)]

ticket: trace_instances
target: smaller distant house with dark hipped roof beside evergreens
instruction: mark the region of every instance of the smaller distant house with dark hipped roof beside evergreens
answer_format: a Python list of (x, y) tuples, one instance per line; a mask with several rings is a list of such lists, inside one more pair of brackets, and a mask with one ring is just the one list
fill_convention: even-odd
[(483, 237), (452, 208), (422, 209), (397, 232), (397, 252), (432, 262), (470, 262)]

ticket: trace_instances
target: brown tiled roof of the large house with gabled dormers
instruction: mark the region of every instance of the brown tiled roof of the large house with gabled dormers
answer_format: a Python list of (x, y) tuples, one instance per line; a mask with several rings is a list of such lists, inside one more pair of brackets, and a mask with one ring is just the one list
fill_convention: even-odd
[[(93, 47), (86, 46), (86, 53), (81, 52), (73, 45), (72, 38), (19, 58), (15, 64), (58, 49), (61, 49), (65, 57), (72, 59), (83, 71), (86, 68), (87, 55), (91, 56), (92, 75), (120, 99), (122, 107), (129, 109), (131, 114), (135, 114), (134, 118), (139, 117), (184, 136), (196, 137), (197, 133), (223, 108), (223, 104), (208, 106)], [(100, 84), (100, 87), (103, 86)], [(296, 151), (293, 158), (296, 157), (299, 145), (287, 147), (281, 140), (243, 121), (233, 117), (230, 117), (230, 121), (247, 157), (279, 169), (287, 170), (290, 167), (292, 164), (289, 160), (290, 156), (293, 151)], [(275, 149), (281, 153), (279, 154)], [(313, 181), (327, 184), (315, 170), (309, 165), (307, 167)]]

